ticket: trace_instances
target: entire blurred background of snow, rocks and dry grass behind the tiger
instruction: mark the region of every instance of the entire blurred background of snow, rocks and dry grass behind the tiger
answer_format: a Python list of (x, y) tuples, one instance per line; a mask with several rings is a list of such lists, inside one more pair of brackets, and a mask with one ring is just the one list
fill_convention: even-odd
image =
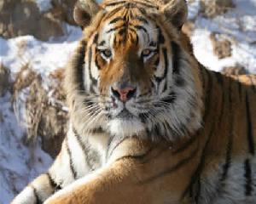
[[(0, 0), (0, 204), (43, 173), (67, 131), (63, 72), (82, 35), (76, 0)], [(99, 1), (100, 2), (100, 1)], [(256, 73), (256, 0), (189, 0), (199, 61)]]

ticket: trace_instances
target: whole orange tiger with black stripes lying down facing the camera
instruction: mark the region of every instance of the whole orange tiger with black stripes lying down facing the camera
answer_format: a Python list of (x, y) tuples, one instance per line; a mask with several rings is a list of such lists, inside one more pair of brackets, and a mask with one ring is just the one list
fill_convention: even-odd
[(12, 204), (256, 203), (256, 76), (209, 71), (185, 0), (79, 0), (68, 133)]

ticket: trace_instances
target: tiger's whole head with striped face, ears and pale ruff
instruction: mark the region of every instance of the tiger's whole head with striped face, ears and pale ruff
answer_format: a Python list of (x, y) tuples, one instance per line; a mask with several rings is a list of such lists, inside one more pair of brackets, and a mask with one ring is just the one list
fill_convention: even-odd
[(80, 0), (84, 36), (67, 69), (73, 125), (175, 139), (201, 126), (201, 82), (183, 43), (184, 0)]

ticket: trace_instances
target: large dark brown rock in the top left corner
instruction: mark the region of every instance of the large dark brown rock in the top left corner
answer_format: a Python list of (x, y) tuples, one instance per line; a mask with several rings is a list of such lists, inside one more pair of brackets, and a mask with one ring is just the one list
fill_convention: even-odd
[[(55, 8), (56, 9), (56, 8)], [(32, 35), (47, 41), (64, 34), (61, 20), (49, 10), (41, 13), (33, 0), (4, 0), (0, 3), (0, 36)]]

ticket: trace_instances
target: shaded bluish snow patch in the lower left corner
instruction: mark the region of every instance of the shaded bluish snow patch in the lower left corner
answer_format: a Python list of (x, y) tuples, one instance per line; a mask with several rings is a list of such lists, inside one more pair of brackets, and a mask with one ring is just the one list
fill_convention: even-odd
[(52, 162), (40, 149), (40, 141), (32, 147), (23, 144), (25, 132), (16, 120), (10, 99), (10, 94), (0, 98), (0, 203), (9, 203), (14, 193)]

